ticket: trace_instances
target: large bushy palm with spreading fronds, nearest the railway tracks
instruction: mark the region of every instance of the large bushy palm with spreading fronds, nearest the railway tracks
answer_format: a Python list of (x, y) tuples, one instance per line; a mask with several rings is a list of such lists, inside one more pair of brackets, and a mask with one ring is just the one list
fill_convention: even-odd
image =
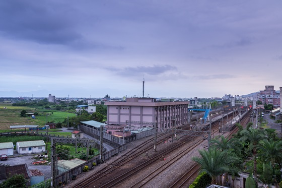
[(193, 160), (201, 165), (200, 173), (206, 172), (212, 177), (211, 184), (215, 184), (217, 176), (229, 170), (230, 157), (226, 151), (222, 152), (215, 148), (211, 148), (209, 151), (199, 150), (199, 154), (201, 158), (193, 157)]

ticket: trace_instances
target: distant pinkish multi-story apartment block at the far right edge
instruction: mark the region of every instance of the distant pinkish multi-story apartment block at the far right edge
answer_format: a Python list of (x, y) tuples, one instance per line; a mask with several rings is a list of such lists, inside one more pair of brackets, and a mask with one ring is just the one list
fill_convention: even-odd
[(259, 91), (259, 100), (262, 104), (273, 104), (274, 107), (280, 106), (280, 94), (276, 93), (274, 86), (265, 86), (265, 90)]

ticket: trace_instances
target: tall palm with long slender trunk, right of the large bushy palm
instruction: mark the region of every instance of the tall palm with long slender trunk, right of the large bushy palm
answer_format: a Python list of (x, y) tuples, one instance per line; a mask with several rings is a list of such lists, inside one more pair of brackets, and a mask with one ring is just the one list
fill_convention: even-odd
[(257, 157), (257, 145), (259, 143), (259, 141), (263, 140), (265, 138), (265, 132), (259, 129), (253, 129), (253, 128), (249, 128), (249, 129), (245, 129), (243, 131), (241, 131), (241, 141), (244, 142), (249, 142), (249, 147), (252, 149), (253, 151), (253, 159), (254, 159), (254, 176), (257, 176), (257, 161), (256, 161), (256, 157)]

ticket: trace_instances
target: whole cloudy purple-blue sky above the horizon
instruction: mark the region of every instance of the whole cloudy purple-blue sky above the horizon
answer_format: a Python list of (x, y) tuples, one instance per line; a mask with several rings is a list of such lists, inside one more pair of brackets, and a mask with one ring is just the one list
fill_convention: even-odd
[(208, 98), (274, 85), (282, 1), (0, 1), (0, 97)]

